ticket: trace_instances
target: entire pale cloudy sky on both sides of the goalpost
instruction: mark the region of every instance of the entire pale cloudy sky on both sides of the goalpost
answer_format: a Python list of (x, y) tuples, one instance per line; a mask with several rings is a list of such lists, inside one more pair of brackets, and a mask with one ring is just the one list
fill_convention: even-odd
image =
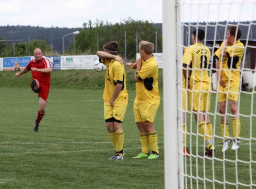
[[(256, 20), (256, 0), (181, 0), (183, 21)], [(85, 21), (162, 22), (162, 0), (0, 0), (0, 25), (82, 27)]]

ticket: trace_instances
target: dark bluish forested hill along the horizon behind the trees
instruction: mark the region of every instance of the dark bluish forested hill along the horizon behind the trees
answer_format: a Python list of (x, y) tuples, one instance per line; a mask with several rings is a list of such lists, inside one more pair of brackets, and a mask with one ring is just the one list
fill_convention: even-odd
[[(256, 24), (256, 21), (254, 21)], [(184, 44), (187, 45), (188, 43), (188, 37), (186, 36), (187, 31), (189, 30), (190, 27), (190, 42), (191, 42), (191, 36), (192, 36), (192, 31), (195, 29), (194, 25), (196, 23), (185, 23), (184, 29), (183, 29), (183, 36), (184, 36)], [(205, 28), (202, 26), (207, 26), (207, 40), (213, 40), (214, 36), (216, 36), (216, 39), (223, 40), (225, 38), (225, 25), (226, 22), (219, 22), (217, 25), (217, 33), (215, 34), (215, 27), (216, 23), (211, 22), (211, 23), (199, 23), (201, 25), (201, 28)], [(231, 24), (237, 24), (236, 22), (232, 22)], [(243, 22), (243, 25), (248, 25), (249, 22)], [(187, 26), (186, 26), (187, 25)], [(224, 26), (223, 26), (224, 25)], [(247, 38), (247, 33), (248, 33), (248, 26), (243, 26), (240, 25), (239, 27), (242, 30), (242, 39)], [(162, 23), (155, 23), (155, 27), (160, 28), (160, 33), (162, 33)], [(4, 39), (24, 39), (28, 41), (28, 38), (30, 40), (33, 39), (45, 39), (46, 43), (48, 44), (53, 44), (55, 47), (55, 50), (57, 52), (62, 52), (62, 41), (63, 41), (63, 36), (65, 34), (70, 34), (73, 33), (74, 31), (77, 31), (82, 28), (60, 28), (60, 27), (40, 27), (40, 26), (0, 26), (0, 38)], [(155, 32), (155, 31), (152, 31)], [(256, 40), (256, 25), (252, 25), (250, 28), (250, 34), (249, 34), (250, 39)], [(70, 44), (73, 41), (72, 35), (66, 36), (64, 38), (64, 44), (65, 44), (65, 50), (67, 50), (70, 47)], [(1, 42), (3, 43), (3, 42)]]

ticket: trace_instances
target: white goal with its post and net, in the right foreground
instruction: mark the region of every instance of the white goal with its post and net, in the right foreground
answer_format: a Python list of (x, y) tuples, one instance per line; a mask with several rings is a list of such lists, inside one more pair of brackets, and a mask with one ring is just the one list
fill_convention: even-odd
[(163, 0), (163, 59), (165, 188), (256, 188), (256, 0)]

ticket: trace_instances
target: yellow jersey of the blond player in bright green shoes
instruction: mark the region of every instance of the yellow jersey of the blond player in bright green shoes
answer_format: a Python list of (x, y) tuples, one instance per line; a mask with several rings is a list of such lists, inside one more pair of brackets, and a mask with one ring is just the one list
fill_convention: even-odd
[(136, 73), (141, 82), (136, 82), (136, 98), (157, 101), (160, 100), (158, 91), (158, 65), (155, 56), (143, 60), (141, 70)]

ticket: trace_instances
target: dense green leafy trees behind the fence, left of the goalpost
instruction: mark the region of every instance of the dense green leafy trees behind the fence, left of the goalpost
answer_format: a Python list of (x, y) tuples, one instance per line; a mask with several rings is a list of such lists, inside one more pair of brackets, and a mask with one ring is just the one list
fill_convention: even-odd
[[(75, 48), (82, 52), (89, 51), (93, 54), (97, 52), (97, 36), (99, 36), (99, 50), (102, 50), (104, 43), (117, 41), (119, 43), (119, 54), (125, 54), (125, 32), (126, 32), (126, 55), (128, 59), (136, 58), (136, 31), (138, 32), (138, 42), (146, 40), (155, 44), (155, 31), (157, 32), (157, 49), (162, 52), (162, 37), (159, 28), (153, 23), (143, 20), (133, 20), (131, 18), (121, 20), (119, 23), (96, 20), (95, 23), (84, 23), (80, 34), (76, 36)], [(71, 46), (70, 48), (73, 48)]]

